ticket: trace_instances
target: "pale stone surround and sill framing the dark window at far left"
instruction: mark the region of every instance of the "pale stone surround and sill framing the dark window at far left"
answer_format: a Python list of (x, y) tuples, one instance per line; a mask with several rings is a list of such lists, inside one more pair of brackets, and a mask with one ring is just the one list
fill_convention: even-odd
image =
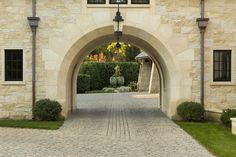
[[(5, 75), (6, 75), (6, 71), (5, 71), (5, 52), (6, 50), (21, 50), (22, 51), (22, 81), (6, 81), (5, 79)], [(1, 84), (2, 85), (25, 85), (25, 53), (24, 53), (24, 49), (23, 48), (5, 48), (2, 51), (2, 81)]]

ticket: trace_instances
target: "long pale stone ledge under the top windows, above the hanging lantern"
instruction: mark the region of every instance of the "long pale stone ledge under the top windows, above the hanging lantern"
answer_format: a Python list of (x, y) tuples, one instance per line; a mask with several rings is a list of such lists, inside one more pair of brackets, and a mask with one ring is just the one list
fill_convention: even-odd
[[(120, 4), (120, 8), (150, 8), (150, 4)], [(87, 8), (117, 8), (117, 4), (87, 4)]]

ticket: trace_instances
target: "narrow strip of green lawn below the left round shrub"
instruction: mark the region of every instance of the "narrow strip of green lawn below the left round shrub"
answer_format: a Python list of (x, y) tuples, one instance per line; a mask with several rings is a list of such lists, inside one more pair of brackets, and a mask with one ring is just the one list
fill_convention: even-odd
[(0, 120), (0, 127), (56, 130), (63, 121)]

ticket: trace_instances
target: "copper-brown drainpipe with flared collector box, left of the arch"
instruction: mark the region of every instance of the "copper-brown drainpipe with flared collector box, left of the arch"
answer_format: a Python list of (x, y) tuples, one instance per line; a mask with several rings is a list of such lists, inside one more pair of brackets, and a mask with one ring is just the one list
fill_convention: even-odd
[(36, 32), (40, 18), (36, 17), (36, 0), (32, 0), (32, 16), (28, 17), (29, 26), (32, 31), (32, 117), (34, 119), (33, 109), (35, 106), (36, 90), (35, 90), (35, 78), (36, 78)]

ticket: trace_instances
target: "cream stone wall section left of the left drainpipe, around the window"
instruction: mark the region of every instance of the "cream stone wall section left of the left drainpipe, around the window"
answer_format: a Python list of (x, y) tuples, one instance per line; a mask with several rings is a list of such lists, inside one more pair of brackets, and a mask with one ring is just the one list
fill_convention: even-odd
[[(31, 117), (31, 30), (28, 0), (0, 2), (0, 118)], [(23, 49), (24, 82), (4, 82), (4, 49)]]

